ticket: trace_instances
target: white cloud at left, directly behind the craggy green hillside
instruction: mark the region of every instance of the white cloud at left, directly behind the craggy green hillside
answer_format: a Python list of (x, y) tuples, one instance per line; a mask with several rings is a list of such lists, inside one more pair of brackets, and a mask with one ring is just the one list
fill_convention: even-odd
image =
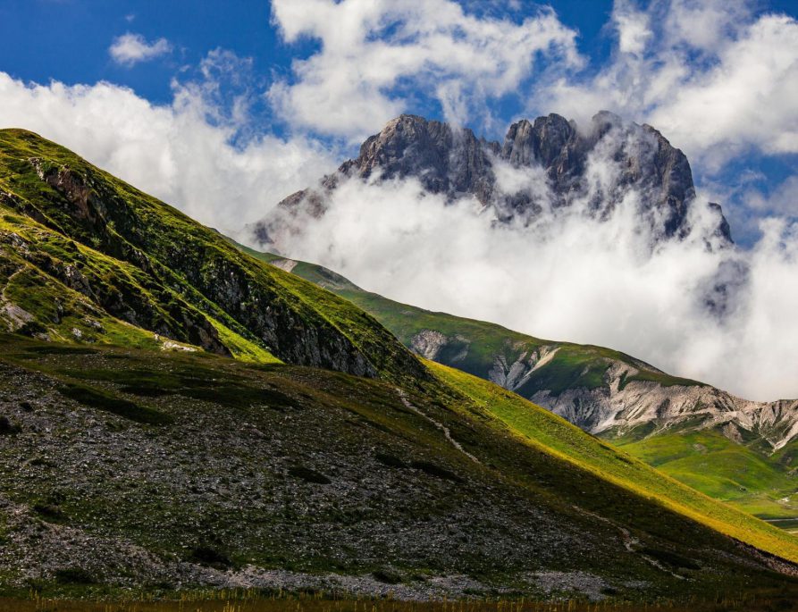
[(105, 82), (26, 84), (0, 72), (0, 127), (36, 131), (200, 222), (238, 231), (335, 163), (302, 137), (231, 144), (248, 123), (247, 105), (235, 96), (229, 108), (215, 104), (214, 66), (223, 61), (232, 59), (211, 54), (210, 79), (175, 83), (172, 105)]

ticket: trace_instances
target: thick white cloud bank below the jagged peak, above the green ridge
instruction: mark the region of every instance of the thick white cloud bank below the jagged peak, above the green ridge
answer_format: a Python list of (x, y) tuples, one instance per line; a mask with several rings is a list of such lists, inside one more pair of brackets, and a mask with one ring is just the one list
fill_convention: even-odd
[[(608, 176), (611, 165), (594, 156), (588, 172)], [(502, 172), (512, 188), (541, 187), (535, 172)], [(627, 192), (605, 222), (588, 214), (588, 195), (504, 224), (417, 180), (347, 180), (320, 218), (308, 208), (272, 221), (282, 253), (402, 302), (617, 348), (746, 398), (798, 396), (798, 224), (764, 222), (751, 251), (708, 249), (718, 216), (699, 200), (693, 232), (651, 251), (640, 197)]]

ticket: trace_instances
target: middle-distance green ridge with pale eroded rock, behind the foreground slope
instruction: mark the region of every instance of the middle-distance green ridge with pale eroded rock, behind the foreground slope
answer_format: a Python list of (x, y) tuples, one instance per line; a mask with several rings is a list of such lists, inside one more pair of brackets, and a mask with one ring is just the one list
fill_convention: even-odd
[(736, 398), (609, 348), (433, 313), (322, 266), (246, 250), (349, 299), (417, 355), (514, 391), (712, 497), (798, 527), (798, 400)]

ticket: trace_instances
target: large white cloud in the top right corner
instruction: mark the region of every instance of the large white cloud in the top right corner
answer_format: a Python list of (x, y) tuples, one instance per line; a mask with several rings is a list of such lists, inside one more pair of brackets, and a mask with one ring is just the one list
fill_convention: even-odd
[(593, 75), (560, 76), (530, 110), (598, 108), (649, 122), (705, 172), (747, 150), (798, 153), (798, 21), (743, 0), (617, 1), (617, 52)]

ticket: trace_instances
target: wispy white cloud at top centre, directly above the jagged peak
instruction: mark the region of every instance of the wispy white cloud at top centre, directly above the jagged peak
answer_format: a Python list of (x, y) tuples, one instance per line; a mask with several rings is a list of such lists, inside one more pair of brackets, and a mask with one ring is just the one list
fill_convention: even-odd
[(447, 119), (490, 121), (487, 102), (517, 93), (536, 60), (575, 68), (576, 32), (550, 9), (523, 21), (466, 13), (452, 0), (274, 0), (273, 22), (288, 43), (320, 48), (292, 65), (270, 99), (290, 124), (362, 138), (430, 96)]

